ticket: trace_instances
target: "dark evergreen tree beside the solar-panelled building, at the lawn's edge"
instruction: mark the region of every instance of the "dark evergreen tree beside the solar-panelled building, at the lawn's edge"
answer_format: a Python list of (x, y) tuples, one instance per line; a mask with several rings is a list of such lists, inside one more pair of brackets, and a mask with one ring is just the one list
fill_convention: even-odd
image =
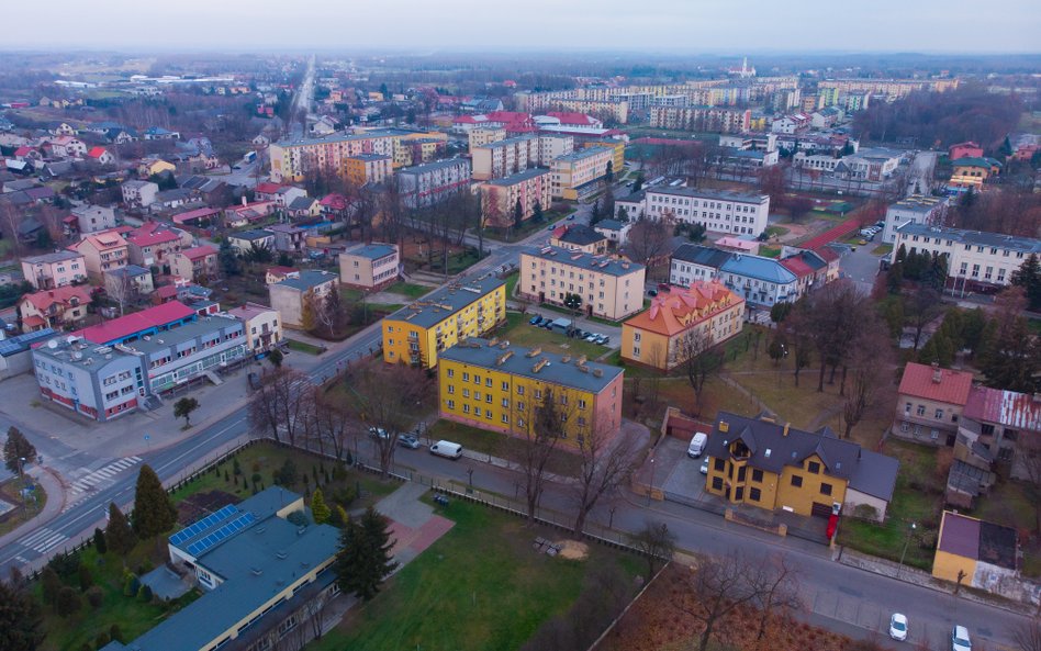
[(340, 590), (368, 602), (380, 591), (380, 584), (398, 565), (390, 558), (388, 520), (371, 506), (340, 531), (340, 549), (336, 558), (336, 581)]

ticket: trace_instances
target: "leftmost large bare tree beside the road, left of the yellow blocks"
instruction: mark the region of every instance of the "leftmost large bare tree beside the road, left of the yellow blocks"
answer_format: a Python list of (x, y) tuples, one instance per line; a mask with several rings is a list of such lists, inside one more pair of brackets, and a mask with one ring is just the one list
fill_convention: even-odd
[(284, 433), (286, 440), (294, 446), (296, 436), (307, 427), (312, 395), (311, 381), (300, 371), (284, 367), (267, 371), (249, 401), (249, 423), (269, 431), (277, 441)]

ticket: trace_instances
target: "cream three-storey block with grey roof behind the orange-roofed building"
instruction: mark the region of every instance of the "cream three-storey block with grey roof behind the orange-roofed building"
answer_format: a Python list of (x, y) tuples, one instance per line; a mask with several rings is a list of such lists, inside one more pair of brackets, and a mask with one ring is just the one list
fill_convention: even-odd
[(628, 260), (546, 246), (520, 254), (517, 291), (555, 305), (577, 294), (585, 315), (620, 321), (643, 307), (645, 274), (642, 265)]

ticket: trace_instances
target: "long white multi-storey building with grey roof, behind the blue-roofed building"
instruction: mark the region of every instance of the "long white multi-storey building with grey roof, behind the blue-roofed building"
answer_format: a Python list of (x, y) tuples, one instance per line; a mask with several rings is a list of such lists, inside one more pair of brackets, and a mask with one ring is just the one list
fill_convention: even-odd
[(758, 237), (766, 228), (770, 197), (695, 188), (648, 188), (640, 210), (651, 220), (704, 224), (715, 233)]

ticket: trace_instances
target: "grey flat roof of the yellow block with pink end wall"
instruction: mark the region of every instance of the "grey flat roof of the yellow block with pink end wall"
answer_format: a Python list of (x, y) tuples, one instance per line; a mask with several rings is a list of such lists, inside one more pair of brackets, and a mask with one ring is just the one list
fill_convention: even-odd
[[(524, 378), (531, 378), (540, 382), (550, 382), (562, 386), (591, 391), (593, 393), (603, 391), (604, 388), (611, 384), (611, 382), (623, 372), (618, 367), (596, 362), (586, 362), (585, 367), (587, 371), (582, 371), (575, 363), (578, 355), (570, 356), (571, 359), (566, 362), (563, 361), (564, 356), (557, 355), (556, 352), (539, 352), (534, 357), (527, 357), (531, 350), (530, 348), (512, 345), (503, 348), (500, 346), (489, 346), (488, 343), (488, 339), (468, 339), (463, 343), (456, 344), (448, 350), (438, 353), (438, 356), (441, 359), (454, 360)], [(506, 358), (502, 363), (499, 363), (499, 360), (507, 352), (513, 352), (513, 355)], [(549, 363), (544, 364), (538, 372), (535, 372), (535, 366), (542, 360)], [(600, 378), (593, 372), (596, 370), (601, 372)]]

